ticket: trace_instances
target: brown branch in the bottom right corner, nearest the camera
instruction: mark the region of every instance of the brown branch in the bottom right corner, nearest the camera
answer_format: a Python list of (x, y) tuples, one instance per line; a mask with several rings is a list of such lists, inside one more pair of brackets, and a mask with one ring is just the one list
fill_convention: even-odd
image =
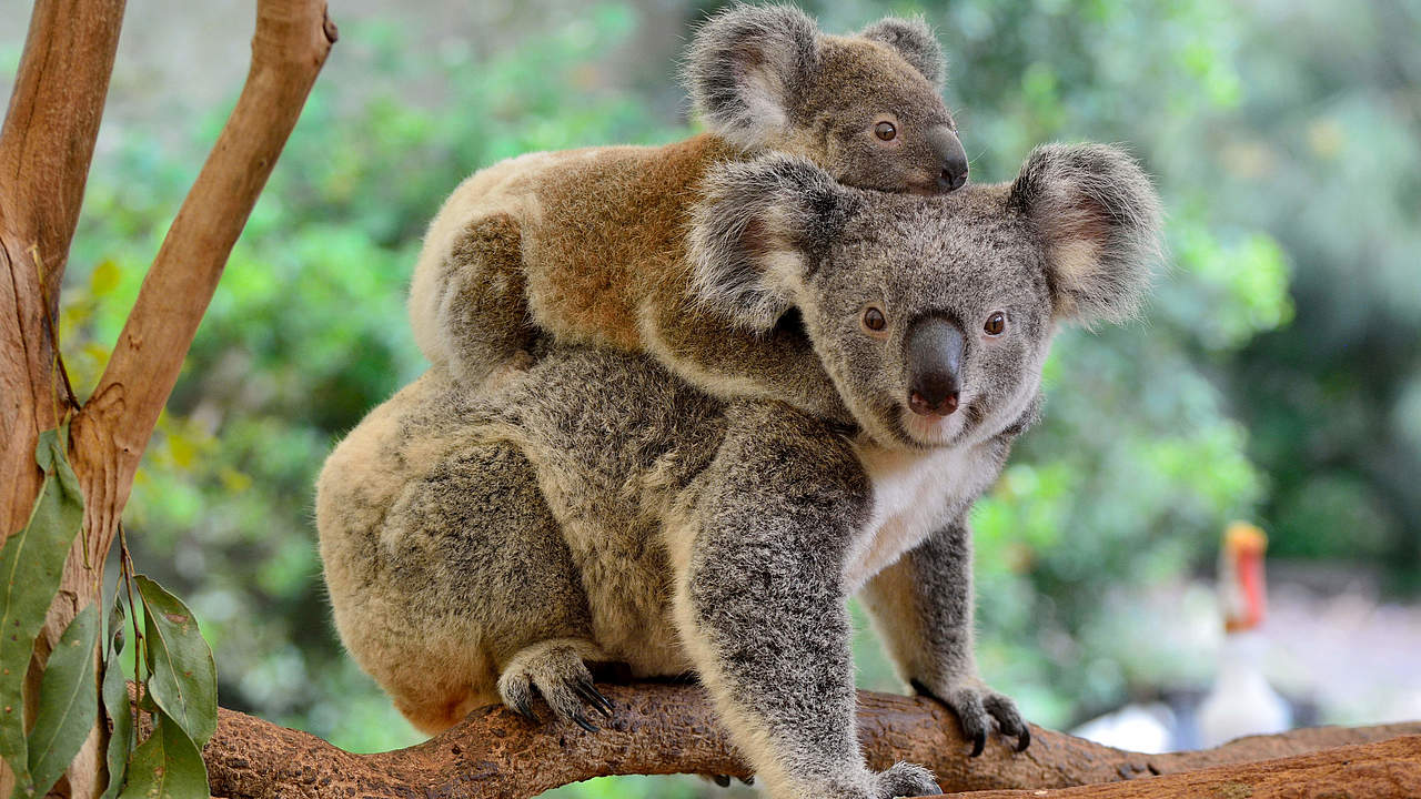
[(956, 799), (1393, 799), (1421, 796), (1421, 736), (1310, 755), (1059, 790), (985, 790)]

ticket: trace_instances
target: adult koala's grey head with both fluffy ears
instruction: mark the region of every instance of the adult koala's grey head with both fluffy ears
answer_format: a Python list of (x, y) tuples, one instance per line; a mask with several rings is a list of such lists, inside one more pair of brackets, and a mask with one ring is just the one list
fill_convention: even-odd
[(1012, 183), (863, 192), (804, 159), (729, 163), (691, 253), (701, 303), (743, 328), (803, 324), (884, 446), (979, 441), (1034, 400), (1057, 321), (1121, 321), (1148, 284), (1160, 208), (1103, 145), (1032, 152)]

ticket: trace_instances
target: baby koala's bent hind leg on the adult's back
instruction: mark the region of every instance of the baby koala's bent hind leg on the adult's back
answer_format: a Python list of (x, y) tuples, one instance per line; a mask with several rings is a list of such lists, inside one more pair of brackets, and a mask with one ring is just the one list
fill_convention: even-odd
[[(435, 326), (422, 341), (462, 385), (477, 387), (510, 370), (527, 368), (536, 328), (527, 306), (523, 237), (506, 213), (473, 219), (438, 264), (439, 274), (423, 307), (411, 306), (414, 324)], [(419, 318), (421, 316), (432, 318)]]

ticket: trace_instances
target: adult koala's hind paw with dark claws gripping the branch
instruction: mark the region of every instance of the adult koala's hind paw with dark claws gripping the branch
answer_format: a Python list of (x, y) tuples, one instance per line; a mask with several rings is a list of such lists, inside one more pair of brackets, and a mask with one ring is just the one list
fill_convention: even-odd
[(588, 732), (598, 726), (587, 719), (584, 704), (607, 718), (612, 704), (593, 685), (593, 674), (583, 663), (590, 650), (584, 643), (540, 641), (513, 655), (499, 675), (499, 695), (503, 704), (533, 724), (541, 724), (533, 712), (533, 690), (560, 719), (571, 721)]

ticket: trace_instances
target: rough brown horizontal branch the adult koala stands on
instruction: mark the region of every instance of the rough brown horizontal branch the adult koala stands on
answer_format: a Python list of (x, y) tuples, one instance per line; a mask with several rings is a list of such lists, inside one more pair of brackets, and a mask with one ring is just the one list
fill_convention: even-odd
[[(701, 688), (600, 688), (617, 705), (617, 715), (597, 734), (557, 724), (533, 728), (502, 707), (489, 707), (416, 746), (352, 755), (306, 732), (223, 709), (203, 758), (213, 795), (230, 799), (513, 799), (607, 775), (746, 775)], [(955, 718), (938, 702), (867, 691), (858, 699), (860, 739), (870, 765), (881, 769), (895, 761), (918, 762), (931, 768), (946, 790), (1118, 782), (1421, 734), (1421, 722), (1319, 728), (1245, 738), (1204, 752), (1141, 755), (1033, 728), (1026, 752), (1015, 754), (996, 742), (973, 759)]]

